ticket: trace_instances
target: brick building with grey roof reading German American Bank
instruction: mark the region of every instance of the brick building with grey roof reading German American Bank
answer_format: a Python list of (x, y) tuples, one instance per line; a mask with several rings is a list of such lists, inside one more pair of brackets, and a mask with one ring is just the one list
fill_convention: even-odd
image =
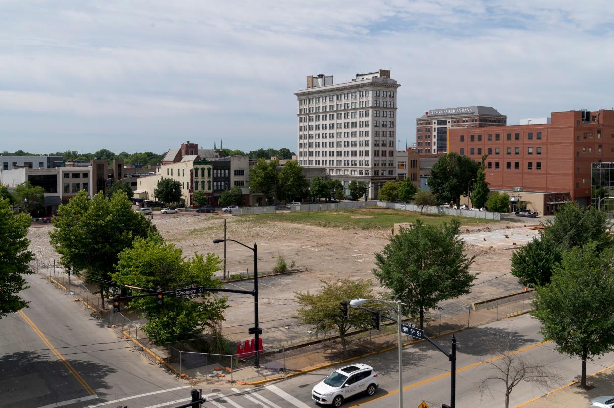
[(432, 109), (416, 119), (416, 150), (419, 154), (448, 152), (448, 129), (507, 124), (507, 116), (490, 106)]

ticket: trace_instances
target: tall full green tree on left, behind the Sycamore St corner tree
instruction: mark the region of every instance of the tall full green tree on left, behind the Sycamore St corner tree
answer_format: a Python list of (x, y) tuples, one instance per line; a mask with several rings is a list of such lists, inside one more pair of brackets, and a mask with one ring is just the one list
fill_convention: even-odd
[(132, 210), (123, 192), (110, 200), (99, 192), (88, 200), (87, 192), (81, 190), (68, 204), (60, 205), (53, 227), (50, 241), (61, 256), (60, 263), (98, 286), (103, 308), (118, 254), (136, 238), (158, 235), (150, 219)]

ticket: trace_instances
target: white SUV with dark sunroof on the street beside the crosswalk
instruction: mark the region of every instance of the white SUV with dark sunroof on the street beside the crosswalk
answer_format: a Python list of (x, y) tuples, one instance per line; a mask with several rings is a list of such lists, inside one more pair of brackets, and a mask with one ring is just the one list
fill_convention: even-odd
[(371, 396), (379, 386), (378, 373), (367, 364), (338, 369), (313, 387), (311, 398), (320, 404), (339, 407), (343, 400), (359, 393)]

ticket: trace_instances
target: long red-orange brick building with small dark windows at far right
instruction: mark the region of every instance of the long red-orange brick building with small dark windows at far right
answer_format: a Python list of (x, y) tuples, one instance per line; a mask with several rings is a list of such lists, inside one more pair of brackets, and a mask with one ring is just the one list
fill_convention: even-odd
[(450, 128), (448, 146), (475, 160), (488, 154), (491, 189), (569, 193), (588, 205), (591, 163), (614, 160), (614, 111), (553, 112), (551, 124)]

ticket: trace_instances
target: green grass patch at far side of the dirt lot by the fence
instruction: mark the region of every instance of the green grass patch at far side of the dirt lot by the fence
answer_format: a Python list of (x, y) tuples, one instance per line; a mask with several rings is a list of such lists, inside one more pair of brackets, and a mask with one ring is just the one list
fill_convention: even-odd
[[(413, 211), (390, 210), (388, 208), (356, 208), (351, 210), (309, 211), (305, 213), (257, 214), (251, 216), (254, 221), (283, 221), (309, 224), (319, 227), (339, 229), (391, 229), (396, 222), (414, 222), (420, 219), (425, 224), (441, 224), (454, 216), (445, 214), (420, 214)], [(458, 217), (461, 224), (475, 224), (476, 221), (498, 222), (492, 219)]]

